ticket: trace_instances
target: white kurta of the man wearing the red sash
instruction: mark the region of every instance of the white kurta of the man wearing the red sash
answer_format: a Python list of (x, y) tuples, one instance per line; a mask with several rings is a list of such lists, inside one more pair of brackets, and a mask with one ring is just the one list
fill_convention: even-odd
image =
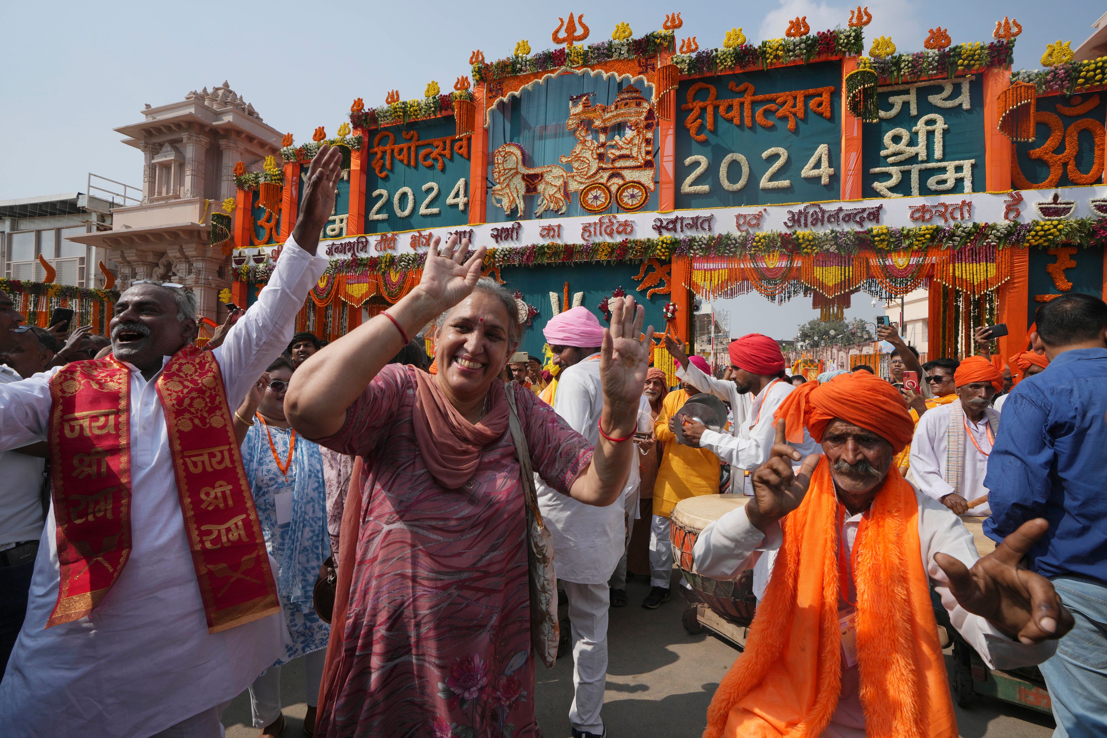
[[(290, 238), (258, 301), (215, 349), (230, 407), (238, 407), (288, 344), (296, 314), (327, 263)], [(27, 620), (0, 684), (6, 736), (143, 738), (193, 718), (206, 726), (214, 718), (217, 735), (218, 706), (248, 687), (282, 648), (280, 614), (208, 633), (155, 389), (161, 373), (146, 380), (128, 366), (131, 558), (87, 617), (45, 627), (59, 586), (51, 509)], [(55, 372), (0, 385), (0, 447), (25, 446), (45, 435)]]

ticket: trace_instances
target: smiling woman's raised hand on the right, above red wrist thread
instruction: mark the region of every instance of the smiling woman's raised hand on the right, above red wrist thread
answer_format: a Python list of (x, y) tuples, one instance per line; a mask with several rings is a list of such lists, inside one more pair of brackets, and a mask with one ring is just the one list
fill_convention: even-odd
[(631, 425), (637, 427), (639, 399), (650, 365), (653, 326), (645, 330), (643, 340), (645, 309), (637, 305), (634, 298), (614, 298), (608, 305), (611, 309), (611, 328), (603, 331), (600, 349), (603, 404), (614, 412), (615, 418), (622, 419), (622, 415), (627, 414)]

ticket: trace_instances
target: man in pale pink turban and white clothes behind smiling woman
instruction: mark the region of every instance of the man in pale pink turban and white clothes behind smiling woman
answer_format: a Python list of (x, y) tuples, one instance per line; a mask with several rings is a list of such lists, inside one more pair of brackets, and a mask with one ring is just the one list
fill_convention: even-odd
[[(594, 446), (603, 410), (603, 326), (587, 308), (577, 306), (551, 318), (542, 333), (554, 352), (554, 364), (561, 370), (554, 410)], [(639, 414), (650, 417), (644, 396)], [(638, 464), (632, 464), (622, 499), (604, 508), (578, 502), (537, 479), (538, 507), (554, 537), (554, 567), (569, 600), (576, 686), (569, 723), (575, 737), (603, 735), (600, 710), (608, 675), (608, 581), (627, 549), (629, 524), (638, 510), (639, 474)]]

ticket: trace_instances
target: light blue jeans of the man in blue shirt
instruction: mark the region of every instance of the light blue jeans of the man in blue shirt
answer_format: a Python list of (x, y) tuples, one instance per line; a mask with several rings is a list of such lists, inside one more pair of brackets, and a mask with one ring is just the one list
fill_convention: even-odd
[(1107, 584), (1078, 576), (1052, 581), (1076, 619), (1057, 655), (1039, 667), (1057, 721), (1054, 738), (1107, 736)]

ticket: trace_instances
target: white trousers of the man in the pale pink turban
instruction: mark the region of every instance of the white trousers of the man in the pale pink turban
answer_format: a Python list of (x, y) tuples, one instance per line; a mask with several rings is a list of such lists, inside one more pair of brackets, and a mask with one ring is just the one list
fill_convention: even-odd
[(577, 730), (603, 734), (603, 689), (608, 682), (608, 609), (611, 593), (607, 583), (561, 582), (569, 601), (572, 626), (572, 706), (569, 723)]

